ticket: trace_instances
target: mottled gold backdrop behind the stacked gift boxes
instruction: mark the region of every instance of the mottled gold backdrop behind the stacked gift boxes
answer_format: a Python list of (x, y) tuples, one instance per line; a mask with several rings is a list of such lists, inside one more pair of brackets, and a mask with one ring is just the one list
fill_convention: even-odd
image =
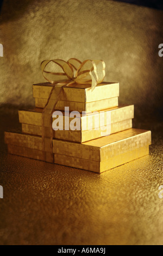
[[(120, 100), (162, 109), (163, 11), (112, 1), (4, 0), (0, 103), (34, 103), (43, 59), (103, 59), (105, 81), (120, 82)], [(9, 90), (12, 88), (12, 92)]]

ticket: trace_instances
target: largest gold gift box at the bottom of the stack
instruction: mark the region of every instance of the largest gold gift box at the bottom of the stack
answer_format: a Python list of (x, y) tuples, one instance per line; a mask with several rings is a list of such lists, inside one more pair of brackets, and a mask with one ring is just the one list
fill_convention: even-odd
[[(42, 151), (42, 138), (39, 136), (5, 132), (5, 143), (11, 154), (44, 160), (45, 153), (37, 152)], [(54, 139), (54, 163), (101, 173), (147, 155), (150, 144), (151, 131), (139, 129), (129, 129), (85, 143)]]

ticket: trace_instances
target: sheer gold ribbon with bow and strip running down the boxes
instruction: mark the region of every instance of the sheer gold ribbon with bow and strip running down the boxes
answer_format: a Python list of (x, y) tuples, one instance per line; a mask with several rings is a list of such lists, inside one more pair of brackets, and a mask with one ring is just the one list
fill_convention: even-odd
[[(45, 70), (47, 65), (57, 64), (63, 72)], [(56, 66), (55, 66), (56, 68)], [(51, 94), (42, 112), (42, 150), (45, 161), (54, 162), (52, 114), (59, 100), (61, 90), (70, 84), (91, 84), (92, 91), (104, 80), (105, 63), (103, 60), (80, 60), (71, 58), (68, 62), (61, 59), (44, 60), (41, 63), (43, 77), (53, 84)], [(75, 109), (74, 109), (75, 110)], [(48, 153), (48, 154), (47, 154)]]

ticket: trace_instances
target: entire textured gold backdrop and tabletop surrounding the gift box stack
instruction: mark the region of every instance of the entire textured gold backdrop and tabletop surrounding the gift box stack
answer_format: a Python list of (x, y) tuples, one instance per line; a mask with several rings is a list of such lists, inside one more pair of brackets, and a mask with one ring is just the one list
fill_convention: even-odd
[[(4, 0), (0, 23), (0, 244), (163, 244), (162, 11), (112, 1)], [(134, 127), (151, 129), (147, 157), (101, 175), (6, 154), (4, 130), (34, 105), (47, 58), (100, 58)], [(149, 119), (147, 118), (149, 117)]]

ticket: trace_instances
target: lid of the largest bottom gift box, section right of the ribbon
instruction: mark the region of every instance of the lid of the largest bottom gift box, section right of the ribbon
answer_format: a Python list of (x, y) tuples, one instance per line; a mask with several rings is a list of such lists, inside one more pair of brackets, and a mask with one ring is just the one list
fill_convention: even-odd
[(110, 157), (150, 144), (151, 131), (129, 129), (82, 144), (54, 139), (53, 153), (93, 161), (105, 161)]

